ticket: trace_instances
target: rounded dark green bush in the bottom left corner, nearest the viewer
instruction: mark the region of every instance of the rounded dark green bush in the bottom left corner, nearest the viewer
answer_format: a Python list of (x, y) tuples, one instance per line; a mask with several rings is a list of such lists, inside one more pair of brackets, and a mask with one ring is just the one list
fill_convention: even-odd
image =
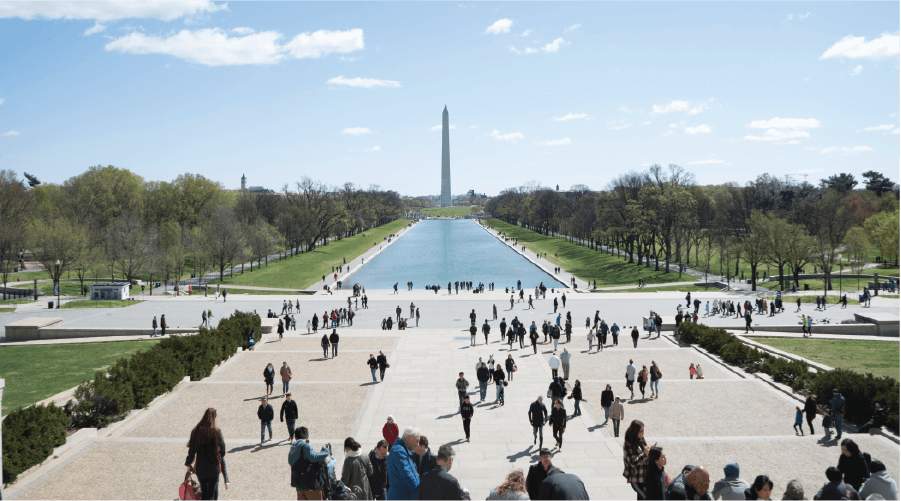
[(40, 464), (66, 443), (69, 419), (54, 404), (16, 409), (3, 420), (3, 483)]

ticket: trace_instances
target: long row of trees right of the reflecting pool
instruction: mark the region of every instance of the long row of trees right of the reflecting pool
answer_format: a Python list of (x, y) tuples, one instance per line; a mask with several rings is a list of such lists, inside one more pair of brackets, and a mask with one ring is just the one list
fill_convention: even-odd
[(511, 188), (492, 198), (487, 211), (542, 234), (619, 249), (636, 266), (653, 261), (659, 269), (662, 261), (665, 272), (674, 263), (708, 270), (713, 261), (720, 275), (732, 278), (745, 262), (752, 277), (772, 265), (780, 279), (792, 274), (797, 282), (814, 264), (831, 288), (840, 257), (866, 261), (875, 244), (885, 259), (898, 260), (898, 188), (877, 172), (864, 177), (863, 191), (854, 190), (850, 174), (819, 186), (767, 174), (744, 186), (699, 186), (677, 165), (654, 165), (600, 192), (585, 185), (564, 192), (536, 183)]

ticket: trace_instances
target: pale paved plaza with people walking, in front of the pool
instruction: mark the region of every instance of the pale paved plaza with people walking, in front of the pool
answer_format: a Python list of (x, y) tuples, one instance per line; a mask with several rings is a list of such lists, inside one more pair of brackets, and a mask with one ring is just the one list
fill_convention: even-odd
[[(316, 447), (330, 442), (338, 451), (344, 438), (353, 436), (368, 451), (382, 438), (382, 426), (392, 414), (401, 429), (410, 425), (420, 428), (429, 438), (433, 452), (440, 444), (454, 445), (458, 455), (452, 473), (473, 499), (484, 499), (511, 469), (526, 470), (537, 462), (537, 446), (532, 445), (527, 412), (529, 404), (547, 392), (551, 377), (547, 359), (553, 346), (540, 344), (537, 355), (532, 354), (530, 346), (518, 349), (518, 344), (514, 344), (511, 350), (500, 342), (497, 326), (502, 317), (508, 323), (518, 316), (524, 322), (536, 321), (539, 325), (544, 320), (555, 319), (550, 294), (547, 300), (536, 302), (535, 310), (527, 310), (523, 303), (515, 304), (510, 310), (509, 295), (503, 291), (484, 295), (461, 292), (450, 297), (446, 291), (437, 295), (419, 290), (402, 290), (397, 295), (369, 291), (369, 309), (357, 311), (354, 327), (338, 330), (341, 335), (338, 357), (323, 359), (319, 340), (330, 330), (308, 335), (305, 319), (313, 312), (321, 316), (327, 309), (346, 306), (346, 295), (300, 297), (297, 331), (289, 331), (281, 341), (277, 335), (265, 336), (256, 351), (239, 353), (210, 378), (179, 386), (149, 409), (133, 413), (112, 432), (101, 430), (98, 438), (76, 446), (4, 494), (22, 501), (114, 500), (121, 498), (123, 486), (128, 486), (129, 497), (133, 499), (174, 499), (184, 475), (185, 445), (190, 429), (203, 409), (212, 406), (219, 411), (231, 480), (229, 489), (220, 491), (220, 499), (294, 499), (289, 485), (287, 431), (277, 418), (273, 423), (275, 440), (263, 447), (259, 445), (256, 408), (258, 399), (265, 393), (262, 370), (268, 362), (276, 369), (282, 362), (291, 366), (294, 372), (291, 391), (301, 409), (298, 425), (310, 428), (311, 442)], [(236, 296), (225, 304), (212, 298), (168, 298), (120, 310), (52, 313), (65, 318), (64, 323), (71, 326), (97, 325), (112, 316), (119, 326), (139, 327), (149, 324), (153, 315), (162, 313), (170, 325), (185, 326), (199, 324), (201, 309), (213, 309), (215, 319), (235, 309), (262, 314), (270, 308), (281, 311), (279, 296)], [(825, 482), (826, 467), (837, 463), (840, 450), (835, 441), (821, 440), (818, 422), (816, 435), (794, 436), (794, 408), (799, 402), (752, 375), (716, 364), (693, 348), (679, 348), (667, 336), (647, 339), (646, 333), (642, 333), (638, 348), (633, 348), (626, 329), (620, 336), (619, 346), (610, 346), (608, 340), (603, 352), (586, 353), (584, 322), (586, 317), (593, 318), (595, 310), (600, 310), (601, 317), (609, 324), (616, 322), (625, 329), (640, 324), (641, 317), (650, 310), (674, 312), (676, 304), (680, 301), (684, 304), (679, 296), (678, 293), (641, 297), (567, 293), (567, 306), (561, 306), (560, 311), (564, 315), (572, 312), (576, 328), (572, 342), (561, 343), (559, 350), (566, 347), (572, 353), (569, 383), (577, 378), (581, 380), (588, 403), (582, 405), (582, 416), (569, 422), (563, 452), (554, 457), (554, 464), (578, 475), (592, 499), (634, 497), (622, 477), (622, 437), (614, 438), (612, 427), (602, 426), (600, 407), (600, 392), (606, 384), (613, 386), (615, 394), (629, 397), (624, 373), (631, 358), (639, 368), (656, 361), (663, 379), (661, 397), (656, 400), (642, 399), (636, 384), (636, 399), (625, 403), (623, 431), (632, 419), (644, 421), (648, 441), (659, 443), (667, 453), (671, 477), (684, 464), (700, 464), (711, 471), (715, 480), (726, 463), (737, 462), (747, 479), (762, 473), (770, 475), (780, 496), (788, 481), (794, 478), (801, 480), (808, 495), (815, 493)], [(705, 301), (714, 297), (734, 299), (737, 296), (721, 292), (702, 295)], [(419, 328), (411, 326), (404, 331), (378, 328), (382, 318), (395, 315), (398, 305), (407, 315), (410, 302), (420, 308)], [(897, 303), (895, 300), (896, 311)], [(492, 320), (493, 304), (498, 307), (497, 321)], [(857, 308), (849, 307), (846, 311)], [(470, 347), (468, 315), (472, 309), (478, 315), (479, 327), (484, 319), (491, 320), (492, 333), (487, 345), (480, 332), (476, 338), (478, 345)], [(786, 316), (794, 318), (794, 315)], [(716, 325), (717, 321), (710, 323)], [(373, 384), (366, 360), (370, 353), (379, 350), (388, 356), (391, 368), (384, 383)], [(508, 355), (513, 355), (518, 371), (506, 388), (505, 405), (493, 403), (495, 389), (490, 385), (487, 402), (476, 406), (472, 441), (463, 442), (454, 388), (457, 373), (465, 373), (470, 382), (470, 395), (478, 402), (474, 370), (478, 358), (487, 361), (493, 356), (502, 363)], [(691, 363), (704, 367), (704, 380), (689, 379)], [(649, 395), (650, 389), (647, 391)], [(277, 413), (282, 403), (278, 378), (274, 397), (271, 403)], [(566, 406), (572, 412), (571, 400), (566, 401)], [(885, 462), (889, 473), (899, 478), (897, 445), (879, 437), (846, 436), (858, 440), (864, 451)], [(551, 430), (546, 428), (545, 446), (553, 445)], [(340, 464), (343, 457), (338, 461)]]

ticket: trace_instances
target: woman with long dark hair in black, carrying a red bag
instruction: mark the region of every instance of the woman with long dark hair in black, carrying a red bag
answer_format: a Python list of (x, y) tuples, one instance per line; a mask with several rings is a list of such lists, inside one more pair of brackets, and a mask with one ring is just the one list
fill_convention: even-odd
[(222, 430), (216, 426), (216, 409), (210, 407), (203, 413), (197, 426), (191, 430), (188, 457), (185, 459), (188, 471), (193, 471), (200, 481), (200, 490), (203, 493), (201, 501), (219, 499), (219, 464), (223, 456), (225, 456), (225, 441), (222, 439)]

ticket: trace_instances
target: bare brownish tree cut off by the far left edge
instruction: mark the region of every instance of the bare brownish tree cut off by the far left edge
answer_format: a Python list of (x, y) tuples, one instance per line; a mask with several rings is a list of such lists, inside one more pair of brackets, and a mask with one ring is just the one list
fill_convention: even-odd
[[(19, 267), (19, 251), (25, 248), (26, 228), (33, 213), (31, 193), (10, 170), (0, 170), (0, 284)], [(3, 292), (6, 299), (6, 289)]]

